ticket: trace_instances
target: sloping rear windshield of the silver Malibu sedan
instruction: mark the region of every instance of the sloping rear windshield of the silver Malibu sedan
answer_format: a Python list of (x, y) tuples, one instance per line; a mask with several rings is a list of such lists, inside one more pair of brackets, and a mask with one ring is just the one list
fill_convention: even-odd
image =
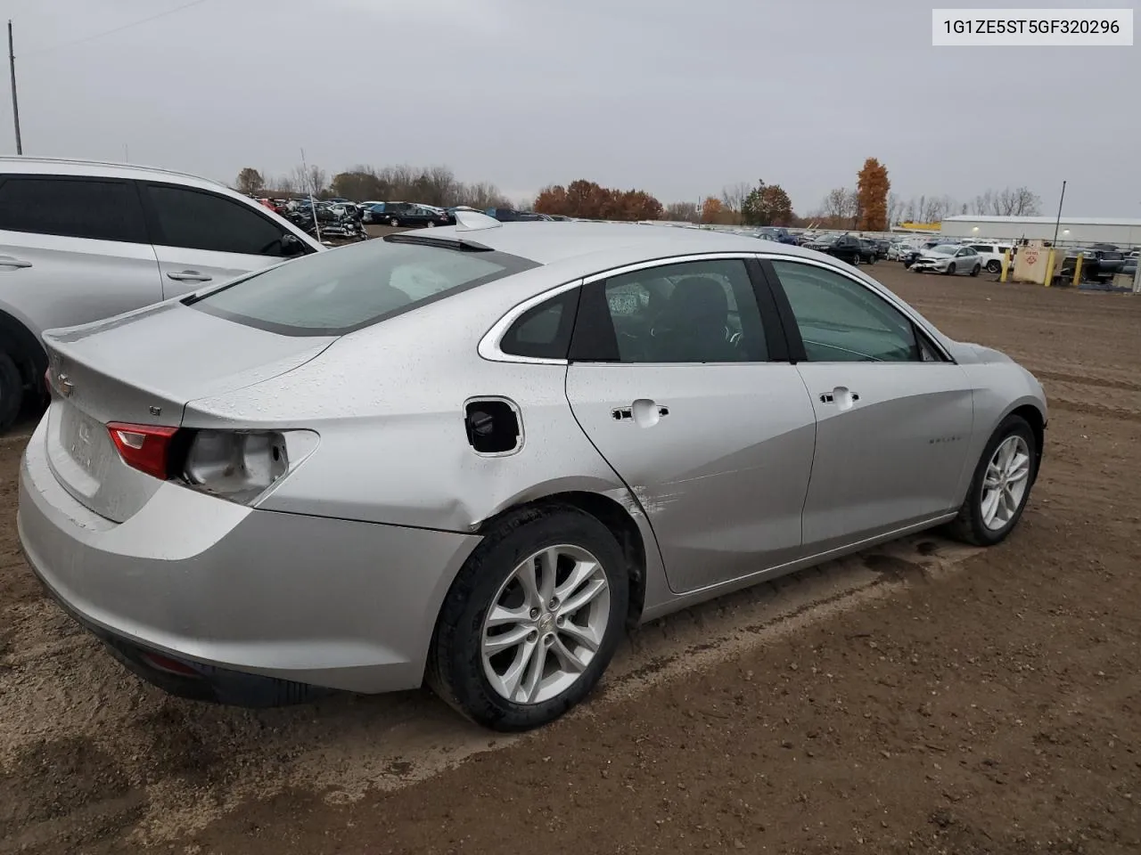
[(186, 304), (283, 335), (346, 335), (539, 267), (518, 255), (453, 246), (366, 241), (289, 261)]

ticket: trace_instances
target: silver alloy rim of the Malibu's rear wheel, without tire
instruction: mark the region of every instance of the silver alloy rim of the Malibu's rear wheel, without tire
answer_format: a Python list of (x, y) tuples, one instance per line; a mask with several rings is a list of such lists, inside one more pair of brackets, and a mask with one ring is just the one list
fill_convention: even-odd
[(501, 698), (543, 703), (574, 685), (606, 636), (610, 589), (602, 564), (569, 544), (519, 562), (484, 618), (484, 676)]

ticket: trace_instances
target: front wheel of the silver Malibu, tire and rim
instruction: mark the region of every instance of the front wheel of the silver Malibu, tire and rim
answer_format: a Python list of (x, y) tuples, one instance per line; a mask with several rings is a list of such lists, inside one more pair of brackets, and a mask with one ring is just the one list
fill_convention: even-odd
[(1021, 416), (1010, 415), (995, 430), (974, 469), (974, 478), (950, 534), (974, 546), (1006, 539), (1022, 518), (1037, 477), (1037, 442)]

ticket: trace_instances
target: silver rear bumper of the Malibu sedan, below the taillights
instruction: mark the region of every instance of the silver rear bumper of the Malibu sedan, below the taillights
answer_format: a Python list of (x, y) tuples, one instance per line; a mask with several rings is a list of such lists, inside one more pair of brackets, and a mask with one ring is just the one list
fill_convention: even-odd
[[(257, 511), (172, 483), (114, 523), (56, 481), (44, 433), (21, 464), (24, 554), (136, 671), (153, 665), (144, 654), (165, 656), (228, 702), (273, 694), (258, 677), (290, 684), (275, 684), (285, 695), (420, 685), (439, 605), (478, 536)], [(240, 676), (251, 679), (218, 697)]]

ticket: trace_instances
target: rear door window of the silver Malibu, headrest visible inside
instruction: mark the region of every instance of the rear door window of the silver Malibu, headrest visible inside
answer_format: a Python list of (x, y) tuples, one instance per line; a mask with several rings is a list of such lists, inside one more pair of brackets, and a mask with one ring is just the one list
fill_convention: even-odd
[[(744, 261), (666, 264), (622, 274), (586, 287), (584, 301), (593, 299), (600, 303), (598, 320), (613, 329), (616, 361), (768, 359), (761, 314)], [(576, 339), (577, 326), (589, 323), (590, 311), (580, 310)]]

